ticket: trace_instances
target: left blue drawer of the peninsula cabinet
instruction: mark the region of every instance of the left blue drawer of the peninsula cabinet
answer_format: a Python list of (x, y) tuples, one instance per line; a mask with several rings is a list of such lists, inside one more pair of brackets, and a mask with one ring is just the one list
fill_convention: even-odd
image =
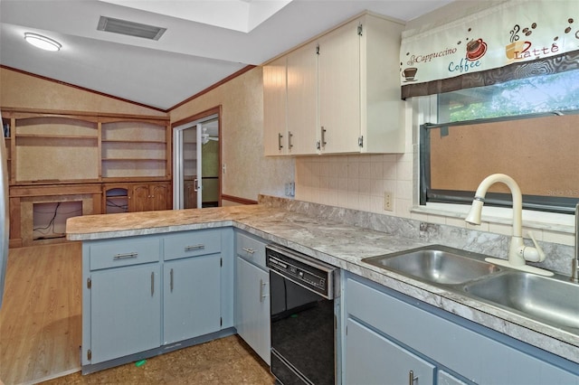
[(90, 270), (157, 262), (158, 238), (113, 239), (90, 245)]

